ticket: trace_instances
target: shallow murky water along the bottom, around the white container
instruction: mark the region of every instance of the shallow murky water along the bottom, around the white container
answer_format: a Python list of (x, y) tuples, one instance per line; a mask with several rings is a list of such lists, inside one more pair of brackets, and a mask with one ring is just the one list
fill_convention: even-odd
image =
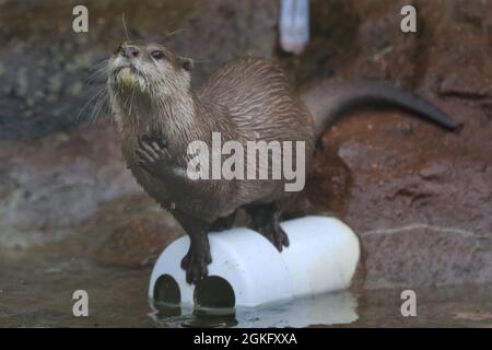
[[(149, 303), (150, 268), (103, 267), (87, 260), (0, 266), (1, 327), (492, 327), (492, 285), (415, 289), (417, 317), (400, 312), (401, 290), (345, 291), (234, 316)], [(72, 293), (89, 293), (89, 317), (74, 317)]]

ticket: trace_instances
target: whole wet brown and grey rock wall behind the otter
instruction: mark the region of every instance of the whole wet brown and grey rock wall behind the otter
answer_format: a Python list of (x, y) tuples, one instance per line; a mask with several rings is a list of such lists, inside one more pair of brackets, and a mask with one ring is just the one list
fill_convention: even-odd
[[(87, 34), (71, 30), (80, 3)], [(409, 3), (417, 34), (399, 30)], [(0, 260), (133, 268), (183, 234), (130, 176), (104, 108), (122, 12), (132, 38), (192, 57), (196, 84), (253, 52), (279, 59), (306, 98), (323, 96), (325, 79), (387, 79), (464, 122), (447, 133), (397, 110), (353, 113), (325, 132), (311, 205), (295, 209), (353, 228), (363, 288), (492, 281), (490, 0), (312, 1), (298, 57), (278, 48), (278, 1), (0, 0)]]

